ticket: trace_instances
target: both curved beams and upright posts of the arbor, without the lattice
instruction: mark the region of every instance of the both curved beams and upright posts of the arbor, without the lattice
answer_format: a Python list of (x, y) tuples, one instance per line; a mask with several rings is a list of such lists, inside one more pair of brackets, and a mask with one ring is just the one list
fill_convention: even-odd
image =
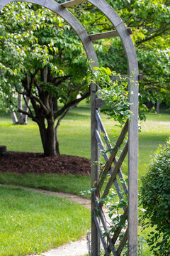
[[(106, 2), (106, 0), (71, 0), (63, 4), (58, 4), (55, 0), (0, 0), (0, 10), (11, 2), (29, 2), (38, 4), (64, 18), (67, 23), (74, 29), (79, 36), (81, 43), (86, 50), (87, 58), (90, 62), (91, 68), (98, 66), (98, 59), (96, 51), (91, 40), (91, 36), (86, 32), (86, 29), (77, 20), (77, 18), (67, 10), (67, 7), (81, 4), (88, 1), (90, 4), (96, 6), (105, 16), (111, 21), (115, 27), (115, 32), (120, 36), (120, 39), (125, 48), (125, 53), (128, 60), (128, 76), (130, 77), (129, 95), (130, 95), (130, 110), (132, 111), (131, 122), (128, 124), (128, 255), (137, 256), (137, 151), (138, 151), (138, 63), (135, 46), (132, 43), (132, 38), (128, 29), (125, 27), (123, 20), (118, 16), (116, 11)], [(113, 31), (111, 31), (113, 35)], [(116, 35), (117, 35), (116, 34)], [(112, 37), (112, 36), (111, 36)], [(91, 161), (96, 162), (98, 156), (98, 142), (96, 141), (96, 130), (98, 129), (98, 122), (96, 120), (96, 86), (91, 86)], [(107, 143), (107, 142), (106, 142)], [(95, 164), (91, 165), (91, 186), (98, 180), (98, 167)], [(91, 200), (91, 255), (98, 256), (98, 241), (99, 235), (96, 228), (94, 218), (95, 200)], [(126, 238), (125, 238), (126, 239)], [(93, 244), (94, 242), (94, 244)], [(117, 252), (113, 255), (119, 256)]]

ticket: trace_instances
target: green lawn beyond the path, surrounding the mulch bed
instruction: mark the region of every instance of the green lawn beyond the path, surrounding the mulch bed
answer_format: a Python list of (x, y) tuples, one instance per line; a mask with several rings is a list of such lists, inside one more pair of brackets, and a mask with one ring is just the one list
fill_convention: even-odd
[[(103, 123), (111, 140), (115, 140), (119, 128), (111, 119), (101, 114)], [(147, 121), (142, 124), (139, 134), (139, 177), (147, 171), (147, 164), (159, 144), (164, 144), (170, 136), (170, 114), (147, 114)], [(29, 120), (28, 126), (14, 126), (10, 116), (0, 113), (0, 144), (6, 145), (9, 151), (42, 152), (38, 127)], [(84, 156), (90, 159), (90, 106), (81, 102), (62, 121), (59, 127), (61, 154)], [(124, 166), (126, 170), (127, 167)], [(90, 177), (63, 176), (57, 174), (0, 174), (0, 183), (21, 184), (35, 188), (45, 188), (52, 191), (64, 191), (80, 195), (80, 191), (90, 188)], [(149, 231), (148, 231), (149, 232)], [(140, 238), (146, 238), (147, 233), (140, 233)], [(147, 245), (143, 245), (144, 255), (152, 255)]]

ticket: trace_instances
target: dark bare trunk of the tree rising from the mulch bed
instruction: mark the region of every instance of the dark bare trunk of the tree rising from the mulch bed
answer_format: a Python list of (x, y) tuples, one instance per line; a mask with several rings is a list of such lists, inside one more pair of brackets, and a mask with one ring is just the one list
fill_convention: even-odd
[(47, 119), (47, 127), (45, 127), (44, 119), (40, 121), (38, 126), (45, 156), (59, 156), (59, 143), (57, 142), (53, 117)]

